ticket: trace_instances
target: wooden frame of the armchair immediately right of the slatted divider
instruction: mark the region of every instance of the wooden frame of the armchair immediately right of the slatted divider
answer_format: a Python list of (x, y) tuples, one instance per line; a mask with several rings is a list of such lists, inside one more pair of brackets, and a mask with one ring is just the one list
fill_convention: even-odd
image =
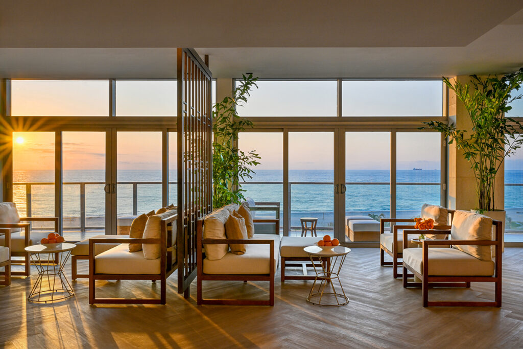
[[(275, 256), (274, 240), (272, 239), (203, 239), (203, 221), (200, 218), (197, 221), (197, 303), (198, 305), (236, 305), (236, 306), (274, 306), (274, 275), (275, 275)], [(253, 220), (255, 223), (259, 220)], [(279, 221), (279, 220), (278, 220)], [(203, 273), (203, 244), (268, 244), (269, 245), (269, 273), (268, 274), (205, 274)], [(269, 299), (208, 299), (203, 298), (203, 281), (204, 280), (222, 280), (222, 281), (268, 281), (269, 282)]]

